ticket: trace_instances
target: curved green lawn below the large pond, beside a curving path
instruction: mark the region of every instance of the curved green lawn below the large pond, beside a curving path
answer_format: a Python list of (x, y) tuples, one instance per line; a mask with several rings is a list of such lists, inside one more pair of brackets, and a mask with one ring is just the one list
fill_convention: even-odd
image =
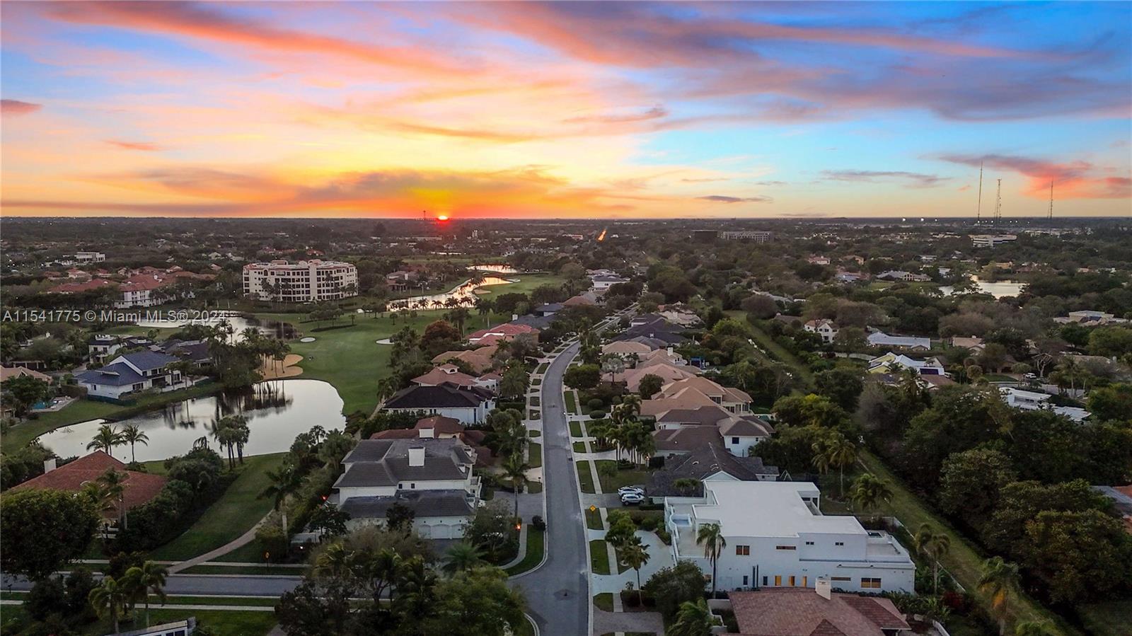
[(272, 509), (271, 499), (259, 499), (267, 487), (267, 471), (278, 467), (283, 453), (245, 459), (240, 476), (183, 534), (149, 553), (154, 560), (191, 559), (247, 532)]

